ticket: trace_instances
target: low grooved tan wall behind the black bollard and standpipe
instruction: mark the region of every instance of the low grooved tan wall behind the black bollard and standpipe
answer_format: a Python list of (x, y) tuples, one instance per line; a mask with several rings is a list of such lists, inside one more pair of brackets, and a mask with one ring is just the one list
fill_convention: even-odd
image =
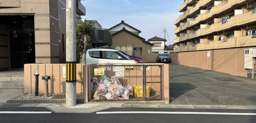
[[(26, 93), (35, 92), (34, 70), (39, 69), (39, 93), (44, 93), (44, 80), (41, 76), (50, 76), (48, 81), (49, 93), (66, 93), (66, 78), (63, 78), (63, 66), (65, 64), (25, 64), (24, 65), (24, 90)], [(83, 71), (82, 64), (77, 64), (77, 72)], [(78, 74), (77, 74), (77, 77)], [(80, 78), (77, 78), (80, 79)], [(77, 83), (77, 93), (82, 92), (83, 87)]]

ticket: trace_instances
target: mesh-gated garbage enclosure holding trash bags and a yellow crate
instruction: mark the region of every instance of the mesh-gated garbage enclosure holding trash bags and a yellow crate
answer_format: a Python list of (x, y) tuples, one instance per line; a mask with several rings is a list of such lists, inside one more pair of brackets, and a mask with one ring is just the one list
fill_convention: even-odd
[(164, 100), (161, 64), (91, 64), (90, 101)]

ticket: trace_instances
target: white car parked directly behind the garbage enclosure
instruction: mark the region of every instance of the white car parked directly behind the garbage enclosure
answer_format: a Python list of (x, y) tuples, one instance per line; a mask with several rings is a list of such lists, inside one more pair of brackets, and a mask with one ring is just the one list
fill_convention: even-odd
[[(82, 64), (82, 59), (79, 61)], [(114, 49), (88, 49), (86, 52), (87, 64), (136, 64), (121, 52)]]

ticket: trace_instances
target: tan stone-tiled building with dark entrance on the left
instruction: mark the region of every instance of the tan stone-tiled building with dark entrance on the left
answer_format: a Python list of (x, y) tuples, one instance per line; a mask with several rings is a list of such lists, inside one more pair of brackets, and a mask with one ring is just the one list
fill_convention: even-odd
[[(77, 21), (85, 12), (76, 0)], [(0, 71), (65, 63), (66, 0), (0, 0), (0, 18)]]

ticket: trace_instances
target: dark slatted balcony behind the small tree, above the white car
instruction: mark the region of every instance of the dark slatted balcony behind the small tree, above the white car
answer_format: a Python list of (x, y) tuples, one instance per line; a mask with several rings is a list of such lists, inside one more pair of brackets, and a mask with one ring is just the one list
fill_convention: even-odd
[(112, 35), (107, 29), (94, 29), (91, 36), (92, 45), (112, 46)]

